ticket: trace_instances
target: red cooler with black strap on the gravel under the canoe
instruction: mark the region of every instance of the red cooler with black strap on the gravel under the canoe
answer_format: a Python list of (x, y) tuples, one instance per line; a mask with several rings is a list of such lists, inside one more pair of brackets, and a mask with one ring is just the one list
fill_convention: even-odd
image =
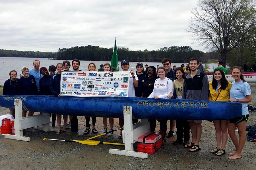
[(162, 146), (160, 133), (148, 132), (138, 139), (138, 152), (153, 154)]

